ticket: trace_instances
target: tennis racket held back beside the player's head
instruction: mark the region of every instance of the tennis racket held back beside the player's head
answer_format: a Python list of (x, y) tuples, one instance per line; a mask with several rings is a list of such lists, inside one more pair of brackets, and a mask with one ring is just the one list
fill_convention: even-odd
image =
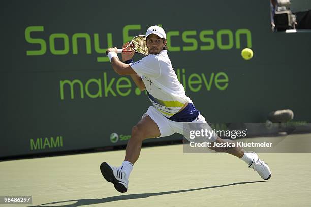
[[(144, 35), (135, 36), (133, 40), (130, 42), (130, 47), (134, 49), (135, 53), (142, 54), (145, 56), (149, 54), (149, 50), (146, 44), (146, 36)], [(117, 51), (117, 53), (122, 52), (132, 52), (132, 51), (126, 49), (118, 49)], [(108, 51), (106, 51), (106, 54), (108, 54)]]

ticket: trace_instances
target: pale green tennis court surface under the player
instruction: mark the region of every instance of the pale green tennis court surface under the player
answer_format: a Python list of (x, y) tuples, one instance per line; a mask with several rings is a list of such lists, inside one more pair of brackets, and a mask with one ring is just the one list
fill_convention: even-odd
[(124, 154), (0, 162), (0, 195), (33, 196), (32, 204), (0, 206), (310, 206), (310, 154), (259, 154), (272, 171), (265, 181), (231, 155), (186, 154), (182, 144), (146, 147), (121, 194), (99, 165), (120, 165)]

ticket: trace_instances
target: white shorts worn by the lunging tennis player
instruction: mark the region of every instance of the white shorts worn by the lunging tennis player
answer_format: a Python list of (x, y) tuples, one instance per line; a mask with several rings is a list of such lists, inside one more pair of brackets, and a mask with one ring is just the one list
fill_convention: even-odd
[[(153, 106), (150, 106), (147, 112), (142, 116), (141, 119), (144, 117), (149, 116), (159, 127), (160, 136), (159, 137), (166, 137), (170, 136), (174, 133), (184, 135), (184, 122), (175, 122), (172, 120), (167, 119), (161, 112), (155, 109)], [(206, 123), (205, 118), (199, 114), (199, 116), (192, 121), (191, 123)], [(200, 130), (200, 129), (199, 129)], [(159, 138), (156, 137), (156, 138)], [(184, 137), (187, 137), (184, 135)], [(216, 141), (217, 137), (212, 137), (209, 142)]]

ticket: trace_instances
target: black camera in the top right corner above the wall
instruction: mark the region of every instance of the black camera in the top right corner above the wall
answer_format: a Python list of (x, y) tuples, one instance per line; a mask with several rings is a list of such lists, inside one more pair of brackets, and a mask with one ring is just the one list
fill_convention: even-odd
[(290, 5), (290, 0), (277, 0), (274, 12), (274, 24), (277, 31), (296, 29), (296, 15), (291, 12)]

